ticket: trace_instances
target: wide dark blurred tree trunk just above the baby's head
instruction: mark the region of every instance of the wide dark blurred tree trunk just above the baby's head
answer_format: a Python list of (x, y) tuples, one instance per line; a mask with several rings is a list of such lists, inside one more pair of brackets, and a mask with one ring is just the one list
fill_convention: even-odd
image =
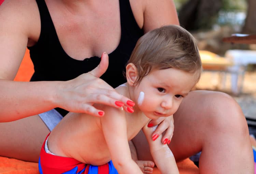
[(189, 0), (179, 12), (180, 24), (187, 30), (211, 28), (221, 5), (222, 0)]

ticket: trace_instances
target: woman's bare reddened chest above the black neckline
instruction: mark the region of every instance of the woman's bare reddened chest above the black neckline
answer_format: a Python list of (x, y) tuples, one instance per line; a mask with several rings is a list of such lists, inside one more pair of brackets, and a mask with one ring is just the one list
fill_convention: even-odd
[(57, 11), (51, 3), (48, 2), (48, 9), (54, 28), (70, 57), (83, 60), (116, 49), (121, 37), (118, 0), (86, 4), (75, 12), (74, 9)]

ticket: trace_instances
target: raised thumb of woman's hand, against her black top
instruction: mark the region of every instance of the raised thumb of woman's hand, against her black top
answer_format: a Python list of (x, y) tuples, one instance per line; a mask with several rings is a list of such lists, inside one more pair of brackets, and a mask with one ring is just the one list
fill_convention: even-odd
[(103, 54), (101, 55), (100, 64), (96, 68), (91, 70), (89, 73), (95, 77), (100, 77), (106, 72), (106, 70), (108, 69), (108, 66), (109, 66), (109, 55), (106, 52), (103, 52)]

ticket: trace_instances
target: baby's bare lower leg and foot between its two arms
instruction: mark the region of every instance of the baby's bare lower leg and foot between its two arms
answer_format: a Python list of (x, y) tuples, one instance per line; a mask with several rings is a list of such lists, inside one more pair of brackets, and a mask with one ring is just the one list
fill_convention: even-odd
[(131, 150), (131, 157), (132, 159), (137, 163), (137, 165), (140, 167), (141, 171), (145, 174), (150, 174), (153, 172), (154, 162), (153, 161), (142, 161), (138, 160), (137, 152), (134, 144), (132, 141), (129, 141), (129, 146)]

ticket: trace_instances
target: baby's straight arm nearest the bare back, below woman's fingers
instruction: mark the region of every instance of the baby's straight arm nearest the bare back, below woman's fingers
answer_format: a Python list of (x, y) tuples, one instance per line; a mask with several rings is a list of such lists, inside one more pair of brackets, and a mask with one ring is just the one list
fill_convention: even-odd
[(124, 111), (107, 108), (104, 109), (104, 117), (101, 117), (101, 126), (116, 170), (122, 174), (143, 174), (131, 158)]

